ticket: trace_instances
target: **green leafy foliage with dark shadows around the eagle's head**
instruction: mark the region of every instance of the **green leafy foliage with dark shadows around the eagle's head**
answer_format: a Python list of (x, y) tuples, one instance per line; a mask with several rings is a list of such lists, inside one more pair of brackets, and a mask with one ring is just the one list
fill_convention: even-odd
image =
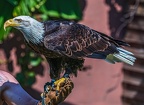
[[(21, 85), (31, 86), (35, 82), (34, 69), (41, 65), (43, 59), (27, 47), (22, 47), (24, 42), (20, 32), (11, 30), (11, 28), (6, 31), (3, 29), (6, 20), (19, 15), (29, 15), (43, 21), (55, 18), (80, 20), (82, 14), (78, 0), (71, 2), (67, 0), (0, 0), (0, 46), (3, 47), (7, 59), (10, 59), (11, 50), (16, 48), (17, 62), (21, 67), (21, 72), (16, 75), (16, 78)], [(8, 39), (10, 32), (13, 33), (14, 37)], [(15, 45), (14, 43), (19, 44)], [(8, 62), (7, 65), (12, 72), (14, 69), (12, 62)]]

